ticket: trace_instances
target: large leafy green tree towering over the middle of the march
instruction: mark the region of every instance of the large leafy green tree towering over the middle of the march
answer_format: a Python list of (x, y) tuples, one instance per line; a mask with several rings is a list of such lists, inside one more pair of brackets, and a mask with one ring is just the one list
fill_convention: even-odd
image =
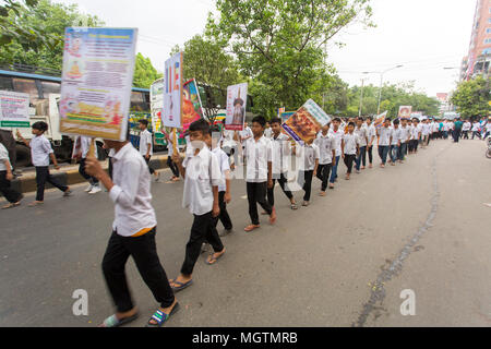
[[(369, 0), (217, 0), (207, 33), (227, 44), (254, 84), (255, 110), (295, 109), (326, 74), (324, 45), (354, 21), (369, 24)], [(273, 108), (275, 106), (275, 108)]]

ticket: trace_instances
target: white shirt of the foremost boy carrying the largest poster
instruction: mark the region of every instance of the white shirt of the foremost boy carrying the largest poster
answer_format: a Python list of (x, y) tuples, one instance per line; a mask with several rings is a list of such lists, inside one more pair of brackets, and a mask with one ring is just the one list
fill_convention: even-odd
[(148, 167), (131, 143), (112, 157), (112, 182), (115, 186), (109, 192), (115, 203), (112, 229), (121, 237), (131, 237), (156, 227)]

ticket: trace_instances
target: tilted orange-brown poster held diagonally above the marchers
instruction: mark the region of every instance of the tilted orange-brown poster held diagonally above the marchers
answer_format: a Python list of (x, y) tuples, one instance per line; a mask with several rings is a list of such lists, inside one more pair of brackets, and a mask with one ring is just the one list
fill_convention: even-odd
[(283, 128), (295, 141), (308, 143), (315, 140), (322, 127), (330, 122), (331, 118), (324, 110), (315, 101), (309, 99), (283, 124)]

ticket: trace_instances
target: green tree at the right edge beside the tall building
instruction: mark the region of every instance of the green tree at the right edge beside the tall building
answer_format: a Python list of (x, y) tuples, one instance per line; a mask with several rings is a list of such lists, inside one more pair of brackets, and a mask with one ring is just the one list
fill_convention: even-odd
[(458, 84), (457, 91), (451, 98), (452, 104), (457, 107), (457, 111), (464, 118), (488, 116), (490, 100), (489, 81), (482, 76)]

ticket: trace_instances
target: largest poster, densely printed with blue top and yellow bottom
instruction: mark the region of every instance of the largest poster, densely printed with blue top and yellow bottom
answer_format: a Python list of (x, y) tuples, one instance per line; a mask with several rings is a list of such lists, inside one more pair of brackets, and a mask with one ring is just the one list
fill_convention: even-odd
[(60, 132), (124, 141), (136, 28), (65, 29)]

